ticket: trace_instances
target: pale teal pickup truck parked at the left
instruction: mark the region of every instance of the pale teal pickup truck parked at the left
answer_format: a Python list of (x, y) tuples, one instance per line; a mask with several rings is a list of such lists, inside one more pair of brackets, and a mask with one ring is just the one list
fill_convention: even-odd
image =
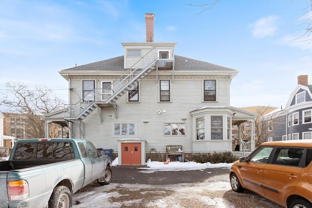
[(0, 208), (70, 208), (82, 187), (111, 183), (111, 163), (88, 140), (19, 140), (0, 162)]

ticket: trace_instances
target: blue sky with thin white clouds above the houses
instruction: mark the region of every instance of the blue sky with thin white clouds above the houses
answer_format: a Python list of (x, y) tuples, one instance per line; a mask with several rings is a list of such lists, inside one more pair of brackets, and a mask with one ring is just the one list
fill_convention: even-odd
[(220, 0), (204, 12), (190, 5), (213, 1), (0, 0), (0, 91), (10, 80), (45, 85), (67, 103), (58, 72), (122, 56), (121, 42), (145, 42), (145, 13), (155, 14), (154, 41), (176, 42), (176, 55), (239, 71), (232, 106), (279, 107), (297, 76), (312, 84), (312, 42), (295, 40), (312, 16), (309, 0)]

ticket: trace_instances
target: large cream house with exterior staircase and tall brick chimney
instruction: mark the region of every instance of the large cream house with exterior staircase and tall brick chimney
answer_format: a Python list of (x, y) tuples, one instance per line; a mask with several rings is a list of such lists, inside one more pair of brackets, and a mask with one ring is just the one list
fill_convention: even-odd
[(256, 113), (230, 106), (238, 71), (175, 55), (175, 42), (154, 42), (154, 14), (145, 14), (146, 42), (122, 42), (124, 55), (59, 72), (69, 83), (64, 111), (43, 116), (69, 127), (70, 138), (113, 149), (118, 164), (145, 164), (166, 145), (187, 153), (232, 151), (232, 125)]

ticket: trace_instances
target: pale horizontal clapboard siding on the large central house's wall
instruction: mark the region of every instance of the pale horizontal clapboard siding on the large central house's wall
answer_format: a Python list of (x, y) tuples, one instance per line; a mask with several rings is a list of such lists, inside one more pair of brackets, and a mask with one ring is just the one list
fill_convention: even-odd
[[(117, 76), (107, 76), (105, 79), (97, 77), (90, 77), (96, 81), (97, 88), (101, 88), (102, 81), (114, 81)], [(84, 118), (81, 125), (84, 129), (84, 138), (91, 139), (96, 148), (112, 148), (114, 153), (117, 152), (118, 138), (140, 138), (147, 142), (146, 151), (155, 148), (158, 151), (165, 151), (165, 145), (178, 144), (183, 146), (184, 151), (192, 151), (193, 146), (193, 133), (195, 132), (195, 125), (193, 125), (191, 111), (203, 107), (202, 101), (202, 86), (203, 79), (212, 79), (207, 76), (194, 76), (193, 78), (175, 75), (174, 84), (172, 84), (172, 76), (159, 75), (158, 79), (151, 78), (149, 75), (140, 80), (140, 102), (127, 102), (128, 96), (125, 94), (117, 100), (117, 115), (116, 118), (114, 109), (112, 107), (104, 107), (100, 109), (102, 121), (99, 117), (98, 109), (94, 110), (86, 118)], [(71, 99), (76, 103), (79, 100), (76, 92), (81, 92), (82, 95), (82, 80), (84, 79), (71, 79), (71, 87), (74, 91), (71, 93)], [(159, 99), (159, 80), (170, 80), (171, 84), (171, 100), (172, 103), (160, 105)], [(217, 80), (217, 102), (213, 102), (213, 106), (221, 107), (229, 106), (230, 100), (228, 95), (229, 82), (227, 79)], [(117, 91), (117, 86), (114, 85), (114, 91)], [(183, 93), (181, 93), (181, 90)], [(192, 99), (187, 99), (186, 95), (191, 96)], [(167, 105), (170, 104), (170, 105)], [(209, 106), (209, 104), (205, 104)], [(166, 113), (157, 114), (157, 110), (166, 110)], [(113, 118), (110, 117), (113, 115)], [(197, 116), (199, 117), (199, 116)], [(227, 121), (227, 116), (223, 115), (224, 121)], [(182, 121), (182, 119), (186, 119)], [(169, 123), (185, 123), (185, 132), (183, 139), (180, 136), (164, 136), (164, 123), (165, 120)], [(144, 123), (145, 122), (145, 123)], [(209, 121), (210, 122), (210, 121)], [(114, 136), (113, 123), (135, 123), (136, 133), (129, 136)], [(79, 138), (80, 133), (78, 122), (74, 125), (75, 136)], [(208, 123), (207, 123), (208, 125)], [(207, 128), (210, 129), (209, 126)], [(224, 126), (223, 135), (226, 135), (226, 126)], [(207, 135), (208, 132), (207, 130)], [(206, 136), (207, 137), (207, 136)], [(209, 136), (210, 137), (210, 136)], [(196, 139), (196, 137), (194, 137)], [(206, 138), (207, 140), (208, 138)], [(210, 138), (209, 138), (210, 139)], [(217, 140), (215, 140), (217, 141)]]

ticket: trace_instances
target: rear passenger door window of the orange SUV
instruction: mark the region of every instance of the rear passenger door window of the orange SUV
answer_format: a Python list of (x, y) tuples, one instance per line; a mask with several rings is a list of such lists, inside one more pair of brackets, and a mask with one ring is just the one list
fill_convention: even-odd
[(299, 167), (304, 149), (278, 147), (276, 148), (272, 163), (277, 165)]

